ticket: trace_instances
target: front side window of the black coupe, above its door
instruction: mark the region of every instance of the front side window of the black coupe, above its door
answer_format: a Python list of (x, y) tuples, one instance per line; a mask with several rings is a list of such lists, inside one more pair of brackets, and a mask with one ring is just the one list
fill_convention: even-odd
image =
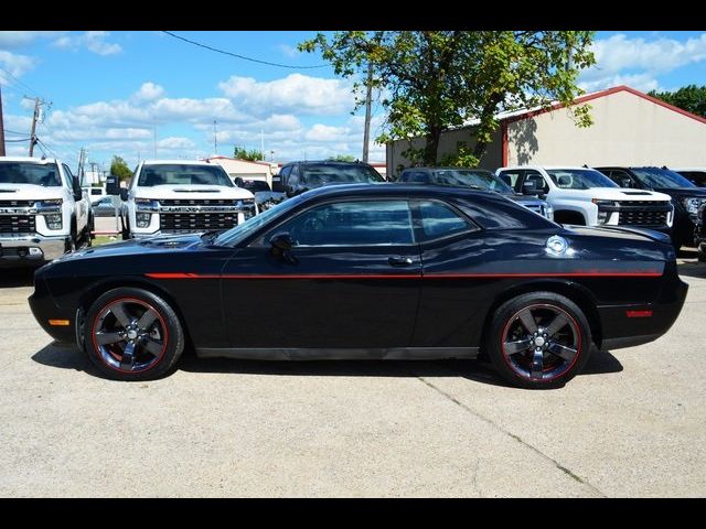
[(296, 246), (391, 246), (414, 244), (407, 201), (338, 202), (314, 206), (272, 233), (288, 233)]

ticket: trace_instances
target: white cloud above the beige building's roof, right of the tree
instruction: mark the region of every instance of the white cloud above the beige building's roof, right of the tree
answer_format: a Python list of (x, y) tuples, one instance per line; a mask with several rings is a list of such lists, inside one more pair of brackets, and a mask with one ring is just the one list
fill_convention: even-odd
[(706, 60), (706, 33), (686, 41), (655, 35), (630, 39), (623, 33), (593, 43), (596, 66), (580, 75), (580, 86), (599, 90), (625, 84), (640, 90), (659, 89), (657, 77)]

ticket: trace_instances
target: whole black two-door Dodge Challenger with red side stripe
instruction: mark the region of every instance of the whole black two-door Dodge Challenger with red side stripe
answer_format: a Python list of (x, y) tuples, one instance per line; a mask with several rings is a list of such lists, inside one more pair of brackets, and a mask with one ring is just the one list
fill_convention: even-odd
[(561, 227), (496, 193), (322, 187), (228, 230), (82, 250), (34, 277), (30, 305), (105, 375), (201, 357), (485, 355), (511, 384), (557, 387), (592, 344), (656, 339), (687, 285), (667, 236)]

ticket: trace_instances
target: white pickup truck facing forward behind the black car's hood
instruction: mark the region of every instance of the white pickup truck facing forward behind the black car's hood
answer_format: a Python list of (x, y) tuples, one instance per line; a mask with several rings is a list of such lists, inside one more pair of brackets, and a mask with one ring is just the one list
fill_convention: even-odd
[(201, 161), (145, 160), (121, 198), (124, 239), (229, 229), (258, 213), (253, 193)]

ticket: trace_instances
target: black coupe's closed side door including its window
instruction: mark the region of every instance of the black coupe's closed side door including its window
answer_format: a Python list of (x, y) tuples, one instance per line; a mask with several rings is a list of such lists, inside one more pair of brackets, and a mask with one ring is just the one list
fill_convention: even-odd
[[(269, 244), (289, 234), (290, 252)], [(236, 250), (223, 270), (235, 348), (386, 348), (410, 343), (421, 263), (406, 199), (311, 206)]]

